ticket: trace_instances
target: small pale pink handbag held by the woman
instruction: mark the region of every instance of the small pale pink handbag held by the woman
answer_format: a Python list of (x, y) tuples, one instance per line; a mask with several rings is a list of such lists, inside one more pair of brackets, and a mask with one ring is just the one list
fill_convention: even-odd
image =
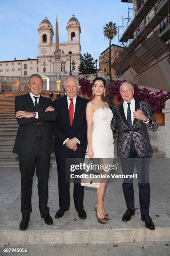
[[(94, 165), (94, 159), (92, 158), (86, 158), (85, 161), (87, 161), (87, 165)], [(93, 174), (93, 175), (92, 175)], [(94, 176), (96, 176), (98, 173), (94, 170), (89, 170), (87, 172), (87, 170), (85, 170), (85, 172), (83, 173), (83, 178), (81, 179), (81, 185), (83, 187), (100, 187), (100, 178), (96, 178)]]

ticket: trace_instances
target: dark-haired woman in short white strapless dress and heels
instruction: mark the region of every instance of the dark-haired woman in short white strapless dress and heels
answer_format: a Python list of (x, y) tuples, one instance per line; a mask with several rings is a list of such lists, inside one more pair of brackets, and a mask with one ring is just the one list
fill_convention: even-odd
[[(95, 97), (87, 103), (86, 108), (88, 146), (85, 157), (100, 158), (105, 164), (107, 159), (111, 159), (113, 163), (114, 144), (110, 128), (113, 115), (107, 102), (102, 101), (102, 94), (105, 94), (105, 79), (96, 77), (93, 80), (92, 90)], [(102, 174), (105, 174), (105, 170), (102, 171)], [(106, 182), (107, 179), (101, 179), (100, 187), (97, 188), (97, 203), (95, 204), (95, 216), (101, 224), (105, 224), (109, 220), (103, 206)]]

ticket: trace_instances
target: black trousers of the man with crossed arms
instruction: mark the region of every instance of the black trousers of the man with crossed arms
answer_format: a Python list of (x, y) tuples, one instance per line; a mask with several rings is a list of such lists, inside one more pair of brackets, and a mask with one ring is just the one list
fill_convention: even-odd
[(38, 178), (39, 209), (42, 214), (49, 212), (47, 199), (50, 154), (44, 151), (41, 142), (41, 138), (35, 141), (33, 151), (30, 155), (18, 155), (21, 173), (21, 212), (23, 214), (30, 214), (32, 212), (32, 178), (35, 173), (35, 166)]

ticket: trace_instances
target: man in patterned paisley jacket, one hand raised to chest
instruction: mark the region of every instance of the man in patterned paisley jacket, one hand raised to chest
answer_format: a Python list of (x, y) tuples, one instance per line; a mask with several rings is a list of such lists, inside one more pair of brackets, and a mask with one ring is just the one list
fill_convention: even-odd
[[(136, 164), (141, 220), (145, 221), (147, 228), (154, 230), (155, 225), (149, 216), (149, 160), (153, 150), (148, 130), (156, 131), (158, 125), (148, 103), (135, 100), (133, 93), (131, 83), (124, 82), (120, 86), (124, 102), (113, 110), (111, 128), (113, 133), (118, 128), (117, 156), (120, 158), (123, 174), (132, 175)], [(135, 214), (133, 179), (124, 179), (122, 187), (128, 208), (122, 220), (128, 221)]]

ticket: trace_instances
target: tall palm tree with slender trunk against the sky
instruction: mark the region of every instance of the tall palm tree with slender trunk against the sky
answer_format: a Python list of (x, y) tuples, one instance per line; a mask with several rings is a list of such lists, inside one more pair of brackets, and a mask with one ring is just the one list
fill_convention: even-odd
[(111, 41), (114, 38), (114, 36), (117, 35), (116, 23), (112, 23), (112, 21), (110, 21), (108, 24), (106, 23), (105, 26), (103, 27), (103, 33), (104, 33), (105, 38), (109, 39), (109, 77), (110, 77), (110, 82), (111, 82), (112, 81)]

